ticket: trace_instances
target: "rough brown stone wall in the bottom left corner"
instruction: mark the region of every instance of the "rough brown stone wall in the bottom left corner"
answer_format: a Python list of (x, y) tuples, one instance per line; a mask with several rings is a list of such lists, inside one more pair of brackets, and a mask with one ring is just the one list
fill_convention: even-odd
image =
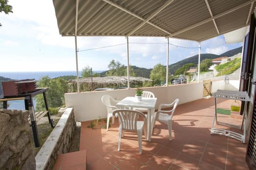
[(35, 169), (28, 111), (0, 109), (0, 169)]

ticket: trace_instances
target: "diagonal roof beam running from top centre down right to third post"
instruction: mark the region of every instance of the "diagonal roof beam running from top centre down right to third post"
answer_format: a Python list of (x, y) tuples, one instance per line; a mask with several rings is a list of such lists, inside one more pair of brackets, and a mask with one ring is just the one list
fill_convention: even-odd
[[(116, 7), (116, 8), (118, 8), (119, 10), (122, 10), (122, 11), (124, 11), (124, 12), (126, 12), (126, 13), (129, 13), (130, 15), (132, 15), (132, 16), (134, 16), (134, 17), (136, 17), (136, 18), (138, 18), (138, 19), (140, 19), (140, 20), (142, 20), (142, 21), (145, 21), (145, 19), (143, 19), (141, 16), (139, 16), (139, 15), (137, 15), (137, 14), (134, 14), (133, 12), (131, 12), (131, 11), (127, 10), (126, 8), (124, 8), (123, 6), (117, 5), (116, 3), (112, 2), (112, 1), (109, 1), (109, 0), (102, 0), (102, 1), (104, 1), (104, 2), (106, 2), (106, 3), (108, 3), (108, 4), (110, 4), (110, 5), (112, 5), (112, 6)], [(174, 0), (172, 0), (172, 1), (174, 1)], [(170, 36), (172, 36), (172, 33), (171, 33), (171, 32), (169, 32), (169, 31), (167, 31), (167, 30), (165, 30), (165, 29), (159, 27), (158, 25), (156, 25), (156, 24), (154, 24), (154, 23), (152, 23), (152, 22), (149, 22), (149, 21), (147, 21), (147, 23), (150, 24), (150, 25), (152, 25), (153, 27), (155, 27), (155, 28), (161, 30), (161, 31), (164, 31), (165, 33), (169, 34)], [(128, 36), (128, 35), (127, 35), (127, 36)]]

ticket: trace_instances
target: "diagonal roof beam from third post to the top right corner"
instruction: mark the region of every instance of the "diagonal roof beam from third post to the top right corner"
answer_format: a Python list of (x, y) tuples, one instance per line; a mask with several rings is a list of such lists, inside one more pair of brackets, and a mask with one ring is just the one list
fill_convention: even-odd
[(206, 19), (206, 20), (203, 20), (203, 21), (201, 21), (201, 22), (198, 22), (198, 23), (195, 23), (195, 24), (193, 24), (193, 25), (190, 25), (189, 27), (184, 28), (184, 29), (181, 29), (181, 30), (179, 30), (179, 31), (177, 31), (177, 32), (173, 32), (172, 35), (171, 35), (171, 36), (168, 36), (168, 37), (170, 38), (170, 37), (177, 36), (177, 35), (179, 35), (180, 33), (186, 32), (186, 31), (191, 30), (191, 29), (193, 29), (193, 28), (195, 28), (195, 27), (198, 27), (199, 25), (202, 25), (202, 24), (204, 24), (204, 23), (206, 23), (206, 22), (209, 22), (209, 21), (211, 21), (211, 20), (217, 19), (217, 18), (219, 18), (219, 17), (221, 17), (221, 16), (223, 16), (223, 15), (226, 15), (226, 14), (228, 14), (228, 13), (230, 13), (230, 12), (236, 11), (236, 10), (238, 10), (239, 8), (244, 7), (244, 6), (246, 6), (246, 5), (249, 5), (249, 4), (251, 4), (251, 3), (255, 2), (255, 1), (256, 1), (256, 0), (251, 0), (251, 1), (249, 1), (249, 2), (245, 2), (245, 3), (241, 4), (241, 5), (238, 5), (238, 6), (236, 6), (236, 7), (231, 8), (231, 9), (228, 10), (228, 11), (225, 11), (225, 12), (222, 12), (222, 13), (220, 13), (220, 14), (218, 14), (218, 15), (215, 15), (215, 16), (209, 18), (209, 19)]

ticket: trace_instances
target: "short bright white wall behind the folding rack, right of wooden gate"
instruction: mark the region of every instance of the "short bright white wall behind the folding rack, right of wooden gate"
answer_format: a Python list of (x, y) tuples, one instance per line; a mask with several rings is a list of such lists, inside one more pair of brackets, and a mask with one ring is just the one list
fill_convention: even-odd
[(228, 83), (225, 81), (213, 81), (212, 82), (212, 93), (216, 92), (218, 89), (220, 90), (239, 90), (239, 80), (229, 80)]

